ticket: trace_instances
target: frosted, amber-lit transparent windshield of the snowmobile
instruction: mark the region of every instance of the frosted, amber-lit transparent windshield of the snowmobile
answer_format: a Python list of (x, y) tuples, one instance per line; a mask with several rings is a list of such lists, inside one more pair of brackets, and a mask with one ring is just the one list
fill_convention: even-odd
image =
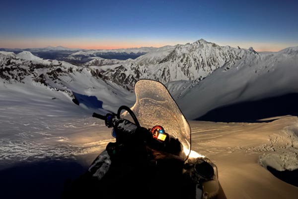
[(165, 132), (178, 138), (187, 159), (191, 148), (190, 126), (166, 87), (153, 80), (139, 80), (135, 92), (136, 103), (131, 109), (140, 125), (150, 129), (162, 126)]

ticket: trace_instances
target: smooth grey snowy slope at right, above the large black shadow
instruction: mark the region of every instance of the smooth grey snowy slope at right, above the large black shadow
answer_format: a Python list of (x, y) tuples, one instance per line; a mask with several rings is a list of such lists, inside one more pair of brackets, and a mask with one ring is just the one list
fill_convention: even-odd
[(177, 102), (186, 117), (195, 119), (223, 105), (298, 93), (297, 77), (298, 47), (246, 54), (231, 68), (220, 68), (185, 91)]

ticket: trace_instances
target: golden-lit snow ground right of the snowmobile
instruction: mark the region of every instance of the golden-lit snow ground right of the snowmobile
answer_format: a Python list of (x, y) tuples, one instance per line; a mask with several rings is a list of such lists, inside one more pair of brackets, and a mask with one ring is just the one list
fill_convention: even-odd
[[(279, 163), (277, 169), (289, 164), (297, 168), (298, 147), (292, 143), (297, 143), (298, 117), (277, 118), (269, 123), (190, 122), (192, 150), (207, 155), (218, 166), (227, 199), (297, 198), (297, 187), (259, 164), (273, 161)], [(296, 156), (284, 158), (289, 152)]]

